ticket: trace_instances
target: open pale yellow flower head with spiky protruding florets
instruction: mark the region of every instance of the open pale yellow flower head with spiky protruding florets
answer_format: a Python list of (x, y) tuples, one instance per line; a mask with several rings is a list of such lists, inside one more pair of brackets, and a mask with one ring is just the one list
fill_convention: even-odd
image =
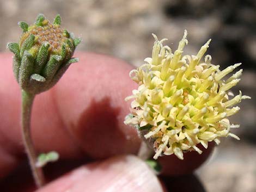
[(209, 141), (220, 143), (221, 137), (233, 137), (228, 116), (240, 108), (233, 107), (241, 100), (250, 98), (239, 95), (230, 98), (229, 89), (239, 81), (242, 70), (224, 78), (241, 63), (227, 67), (223, 71), (219, 65), (211, 64), (211, 56), (206, 55), (200, 62), (211, 40), (203, 45), (197, 55), (182, 55), (188, 43), (185, 30), (178, 49), (172, 53), (163, 46), (163, 39), (153, 46), (152, 58), (130, 72), (130, 77), (139, 87), (126, 100), (131, 102), (131, 114), (125, 123), (134, 126), (144, 139), (153, 142), (157, 159), (162, 154), (175, 154), (183, 159), (183, 152), (202, 151), (197, 147), (208, 147)]

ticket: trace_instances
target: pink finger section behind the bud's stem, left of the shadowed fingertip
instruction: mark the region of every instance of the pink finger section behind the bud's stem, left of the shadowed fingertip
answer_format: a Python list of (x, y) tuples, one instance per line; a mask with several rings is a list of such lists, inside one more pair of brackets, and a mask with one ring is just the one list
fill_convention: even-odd
[[(24, 156), (21, 138), (21, 94), (12, 70), (12, 54), (0, 54), (0, 178), (15, 169)], [(56, 150), (62, 157), (79, 156), (80, 150), (63, 128), (56, 112), (51, 91), (36, 96), (32, 110), (32, 135), (36, 148), (41, 151)], [(41, 113), (39, 113), (41, 112)], [(57, 114), (57, 115), (56, 115)], [(51, 121), (49, 121), (51, 119)], [(37, 125), (40, 123), (40, 126)], [(41, 130), (40, 130), (41, 129)], [(41, 140), (36, 140), (41, 134)], [(54, 142), (52, 142), (54, 141)], [(40, 143), (44, 147), (40, 148)]]

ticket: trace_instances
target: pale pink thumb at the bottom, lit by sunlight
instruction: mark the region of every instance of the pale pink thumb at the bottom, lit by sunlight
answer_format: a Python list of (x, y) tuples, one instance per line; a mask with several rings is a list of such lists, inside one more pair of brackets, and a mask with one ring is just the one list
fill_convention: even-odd
[(118, 156), (93, 166), (85, 165), (37, 192), (162, 192), (154, 172), (135, 156)]

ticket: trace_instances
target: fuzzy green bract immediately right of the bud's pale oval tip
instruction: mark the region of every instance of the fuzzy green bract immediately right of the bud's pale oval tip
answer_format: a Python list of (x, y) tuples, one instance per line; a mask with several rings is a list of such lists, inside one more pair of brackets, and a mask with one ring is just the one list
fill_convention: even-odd
[(50, 60), (45, 66), (43, 76), (48, 80), (52, 79), (56, 71), (59, 69), (62, 57), (59, 55), (52, 55)]

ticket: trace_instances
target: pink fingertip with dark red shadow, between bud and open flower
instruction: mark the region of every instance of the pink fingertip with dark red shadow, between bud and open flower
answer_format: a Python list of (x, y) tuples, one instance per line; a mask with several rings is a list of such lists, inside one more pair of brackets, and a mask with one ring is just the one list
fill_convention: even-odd
[(136, 153), (137, 132), (123, 123), (129, 113), (124, 98), (136, 87), (129, 78), (132, 66), (95, 53), (78, 57), (53, 89), (64, 125), (92, 158)]

